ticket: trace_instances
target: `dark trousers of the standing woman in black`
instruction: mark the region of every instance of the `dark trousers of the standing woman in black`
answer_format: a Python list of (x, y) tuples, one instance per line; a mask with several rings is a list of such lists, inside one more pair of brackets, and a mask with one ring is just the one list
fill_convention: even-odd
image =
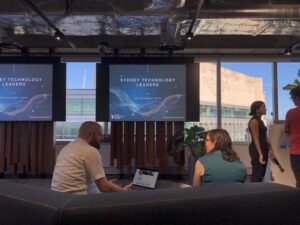
[(267, 169), (268, 150), (263, 151), (264, 161), (266, 162), (265, 164), (259, 163), (259, 155), (255, 146), (253, 145), (249, 146), (249, 154), (251, 157), (251, 165), (252, 165), (252, 175), (250, 181), (262, 182), (262, 179), (264, 178)]

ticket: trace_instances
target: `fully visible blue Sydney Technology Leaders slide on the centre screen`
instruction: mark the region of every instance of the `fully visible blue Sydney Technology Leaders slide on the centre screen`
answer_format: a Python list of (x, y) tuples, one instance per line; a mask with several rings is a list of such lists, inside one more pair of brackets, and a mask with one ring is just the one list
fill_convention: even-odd
[(110, 121), (185, 121), (186, 65), (110, 65)]

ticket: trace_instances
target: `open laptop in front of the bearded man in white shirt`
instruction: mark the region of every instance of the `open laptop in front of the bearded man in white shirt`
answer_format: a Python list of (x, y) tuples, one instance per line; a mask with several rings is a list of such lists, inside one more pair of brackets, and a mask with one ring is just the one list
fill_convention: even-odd
[(145, 190), (156, 188), (159, 171), (150, 168), (137, 168), (134, 174), (132, 189)]

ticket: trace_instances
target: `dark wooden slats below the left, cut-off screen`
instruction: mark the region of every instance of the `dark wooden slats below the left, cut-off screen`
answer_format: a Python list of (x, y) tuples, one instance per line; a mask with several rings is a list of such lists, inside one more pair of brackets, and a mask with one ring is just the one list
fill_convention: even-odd
[(0, 173), (52, 173), (54, 123), (1, 122), (0, 148)]

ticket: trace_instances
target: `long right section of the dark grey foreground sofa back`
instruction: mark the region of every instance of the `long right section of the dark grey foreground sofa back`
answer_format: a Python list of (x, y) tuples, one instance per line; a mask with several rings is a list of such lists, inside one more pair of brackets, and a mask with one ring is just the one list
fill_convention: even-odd
[(299, 190), (247, 183), (80, 196), (66, 203), (62, 223), (299, 225), (299, 210)]

